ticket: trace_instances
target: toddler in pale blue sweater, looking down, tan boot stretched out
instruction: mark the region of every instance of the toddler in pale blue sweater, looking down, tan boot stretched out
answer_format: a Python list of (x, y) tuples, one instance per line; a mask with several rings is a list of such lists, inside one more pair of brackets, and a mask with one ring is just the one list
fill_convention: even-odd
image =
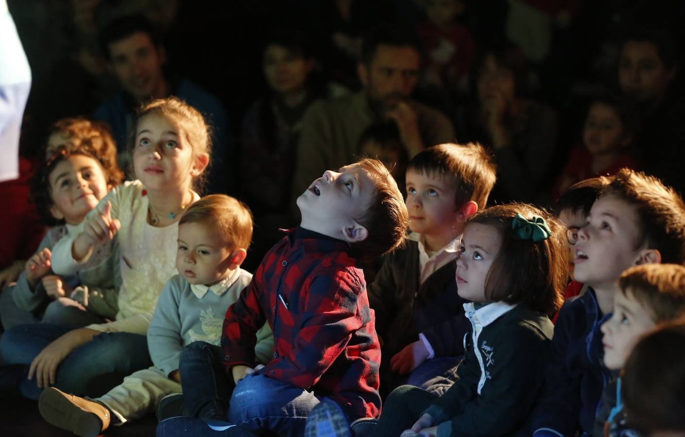
[[(147, 332), (154, 367), (137, 371), (95, 399), (47, 388), (38, 408), (43, 418), (79, 436), (95, 437), (110, 424), (140, 419), (165, 395), (181, 390), (184, 346), (201, 340), (219, 345), (221, 314), (238, 299), (252, 275), (240, 269), (252, 236), (249, 210), (232, 197), (210, 195), (193, 203), (179, 221), (176, 269), (166, 283)], [(219, 317), (217, 317), (219, 316)], [(258, 333), (258, 361), (269, 362), (273, 336)]]

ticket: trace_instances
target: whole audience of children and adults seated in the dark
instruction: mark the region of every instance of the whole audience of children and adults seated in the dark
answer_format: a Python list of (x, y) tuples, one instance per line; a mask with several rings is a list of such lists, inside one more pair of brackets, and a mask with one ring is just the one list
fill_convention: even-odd
[(242, 123), (166, 68), (175, 18), (74, 6), (112, 97), (27, 107), (47, 124), (0, 184), (0, 393), (84, 437), (149, 415), (164, 437), (685, 436), (673, 40), (621, 34), (615, 86), (562, 105), (544, 23), (573, 7), (511, 1), (485, 38), (474, 3), (398, 3), (413, 30), (319, 11), (328, 53), (269, 32)]

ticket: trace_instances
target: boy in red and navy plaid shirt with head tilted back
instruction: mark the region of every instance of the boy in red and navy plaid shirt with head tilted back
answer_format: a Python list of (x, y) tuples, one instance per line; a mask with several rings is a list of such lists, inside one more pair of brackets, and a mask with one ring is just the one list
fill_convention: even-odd
[[(380, 412), (380, 345), (356, 264), (403, 241), (407, 210), (397, 184), (382, 162), (365, 159), (326, 171), (297, 205), (300, 226), (266, 253), (226, 312), (225, 372), (208, 385), (186, 386), (181, 375), (184, 394), (193, 397), (212, 395), (217, 384), (229, 386), (227, 378), (236, 384), (228, 412), (208, 410), (202, 419), (301, 436), (310, 410), (324, 398), (340, 405), (349, 421)], [(265, 322), (274, 333), (273, 358), (255, 369), (255, 333)], [(209, 435), (210, 430), (199, 419), (181, 417), (162, 421), (157, 432)]]

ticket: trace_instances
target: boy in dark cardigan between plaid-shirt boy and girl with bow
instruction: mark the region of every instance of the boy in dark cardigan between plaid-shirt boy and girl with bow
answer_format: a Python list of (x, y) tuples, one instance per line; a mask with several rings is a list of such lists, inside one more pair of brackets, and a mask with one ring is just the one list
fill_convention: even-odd
[(454, 248), (494, 184), (495, 165), (478, 144), (429, 147), (408, 164), (412, 233), (406, 247), (388, 255), (369, 289), (383, 340), (384, 392), (404, 382), (428, 390), (453, 382), (469, 329), (454, 281)]

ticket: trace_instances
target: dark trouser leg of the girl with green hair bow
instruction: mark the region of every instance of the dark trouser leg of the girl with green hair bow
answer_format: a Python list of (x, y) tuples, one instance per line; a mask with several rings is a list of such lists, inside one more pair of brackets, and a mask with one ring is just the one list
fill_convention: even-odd
[(414, 386), (396, 388), (383, 405), (383, 412), (374, 429), (375, 435), (399, 436), (405, 429), (411, 428), (438, 397), (434, 392)]

